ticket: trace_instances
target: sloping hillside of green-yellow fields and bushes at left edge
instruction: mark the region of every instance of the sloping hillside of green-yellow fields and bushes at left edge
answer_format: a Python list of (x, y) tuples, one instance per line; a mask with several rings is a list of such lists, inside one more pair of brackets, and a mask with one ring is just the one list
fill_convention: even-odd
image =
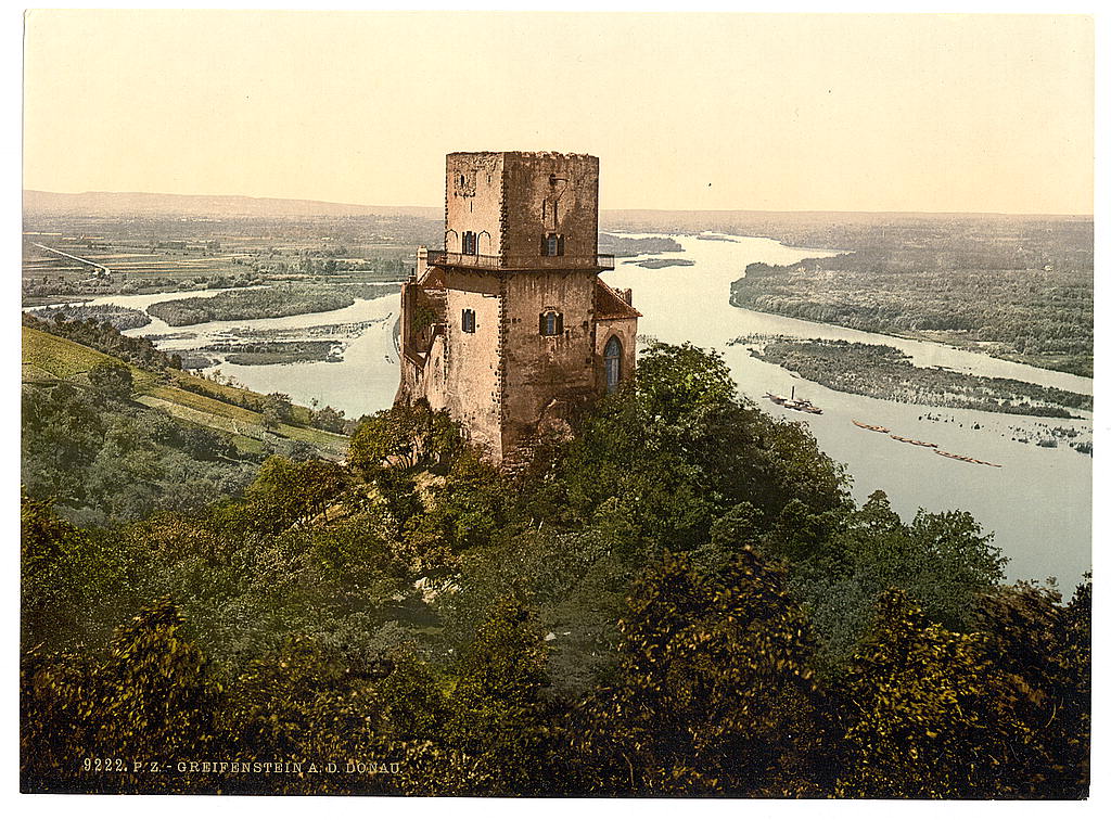
[(347, 441), (298, 423), (310, 411), (294, 413), (288, 398), (139, 367), (26, 326), (22, 400), (24, 488), (80, 521), (196, 509), (242, 492), (270, 453), (337, 458)]

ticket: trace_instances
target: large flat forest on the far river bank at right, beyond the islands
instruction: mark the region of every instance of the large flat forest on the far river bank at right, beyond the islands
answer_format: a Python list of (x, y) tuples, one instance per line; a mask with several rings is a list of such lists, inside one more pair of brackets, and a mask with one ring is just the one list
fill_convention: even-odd
[[(1055, 261), (1042, 264), (1047, 259)], [(1093, 284), (1083, 254), (950, 247), (947, 238), (791, 266), (757, 262), (733, 282), (730, 300), (1091, 376)]]

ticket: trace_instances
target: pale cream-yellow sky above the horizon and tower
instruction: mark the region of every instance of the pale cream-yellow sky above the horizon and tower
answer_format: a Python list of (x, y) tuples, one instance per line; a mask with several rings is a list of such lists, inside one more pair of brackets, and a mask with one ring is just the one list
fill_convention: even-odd
[(1085, 17), (34, 11), (23, 187), (439, 206), (443, 156), (603, 208), (1091, 213)]

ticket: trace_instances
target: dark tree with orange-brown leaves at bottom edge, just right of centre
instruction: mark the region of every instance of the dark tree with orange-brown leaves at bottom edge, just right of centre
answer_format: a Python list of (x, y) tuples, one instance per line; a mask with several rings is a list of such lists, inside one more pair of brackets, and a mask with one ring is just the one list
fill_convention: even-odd
[(822, 793), (805, 619), (752, 550), (717, 577), (665, 554), (620, 621), (617, 682), (578, 716), (594, 788), (629, 794)]

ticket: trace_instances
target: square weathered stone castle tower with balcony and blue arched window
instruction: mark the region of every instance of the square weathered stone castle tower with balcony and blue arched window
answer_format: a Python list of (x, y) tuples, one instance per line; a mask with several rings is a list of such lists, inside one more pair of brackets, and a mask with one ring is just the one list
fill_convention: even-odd
[(501, 463), (635, 367), (631, 291), (598, 278), (598, 158), (451, 153), (444, 250), (401, 290), (394, 403), (447, 410)]

